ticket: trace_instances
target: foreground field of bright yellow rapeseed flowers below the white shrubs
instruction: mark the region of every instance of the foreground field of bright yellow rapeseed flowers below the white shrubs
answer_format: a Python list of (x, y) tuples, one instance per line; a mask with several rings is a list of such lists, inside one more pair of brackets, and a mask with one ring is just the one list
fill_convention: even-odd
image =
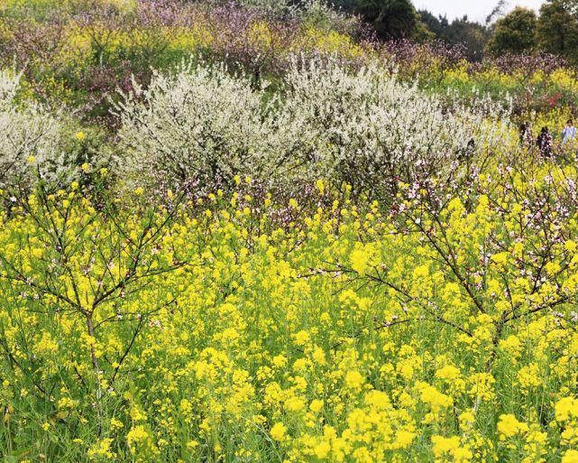
[[(5, 441), (75, 461), (573, 461), (577, 222), (555, 209), (576, 172), (535, 169), (534, 190), (479, 175), (488, 194), (428, 208), (427, 184), (387, 209), (317, 188), (321, 208), (241, 178), (152, 209), (125, 193), (114, 216), (79, 185), (16, 199)], [(31, 412), (33, 434), (10, 431)]]

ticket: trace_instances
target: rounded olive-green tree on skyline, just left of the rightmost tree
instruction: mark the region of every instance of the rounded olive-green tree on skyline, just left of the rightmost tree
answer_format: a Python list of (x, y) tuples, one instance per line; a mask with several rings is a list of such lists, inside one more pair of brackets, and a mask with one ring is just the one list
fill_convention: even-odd
[(487, 50), (494, 55), (533, 51), (537, 46), (536, 28), (536, 13), (518, 6), (496, 22)]

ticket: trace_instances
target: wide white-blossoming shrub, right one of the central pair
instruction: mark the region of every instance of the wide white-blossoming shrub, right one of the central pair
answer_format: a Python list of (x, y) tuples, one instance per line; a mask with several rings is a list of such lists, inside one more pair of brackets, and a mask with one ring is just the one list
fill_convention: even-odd
[(447, 108), (377, 66), (351, 72), (315, 61), (290, 70), (275, 124), (274, 176), (323, 176), (373, 192), (479, 158), (507, 132), (487, 105)]

